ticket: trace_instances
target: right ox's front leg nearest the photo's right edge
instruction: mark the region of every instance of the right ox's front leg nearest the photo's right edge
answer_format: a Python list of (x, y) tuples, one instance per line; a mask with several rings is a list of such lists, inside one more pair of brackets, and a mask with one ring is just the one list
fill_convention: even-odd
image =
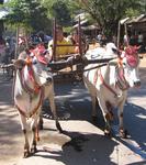
[(123, 109), (124, 109), (124, 103), (125, 101), (123, 101), (120, 106), (119, 106), (119, 124), (120, 124), (120, 136), (125, 139), (127, 136), (127, 131), (124, 129), (124, 124), (123, 124)]

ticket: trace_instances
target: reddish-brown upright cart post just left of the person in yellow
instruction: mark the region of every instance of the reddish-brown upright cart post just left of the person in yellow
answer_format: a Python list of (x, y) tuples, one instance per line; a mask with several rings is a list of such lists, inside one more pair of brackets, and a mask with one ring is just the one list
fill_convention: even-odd
[(56, 19), (54, 19), (54, 24), (53, 24), (53, 61), (56, 61), (56, 46), (57, 46)]

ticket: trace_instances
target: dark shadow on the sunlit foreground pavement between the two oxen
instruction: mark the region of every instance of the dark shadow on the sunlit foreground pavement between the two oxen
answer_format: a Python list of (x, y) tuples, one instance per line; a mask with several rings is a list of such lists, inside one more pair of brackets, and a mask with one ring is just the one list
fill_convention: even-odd
[[(110, 158), (114, 147), (119, 145), (113, 140), (106, 139), (103, 135), (66, 132), (66, 135), (71, 138), (71, 141), (63, 145), (63, 151), (50, 151), (47, 147), (40, 150), (34, 156), (42, 156), (44, 158), (53, 158), (63, 162), (66, 165), (93, 165), (105, 164), (115, 165)], [(103, 147), (103, 145), (105, 147)], [(43, 155), (40, 152), (46, 152)], [(49, 153), (49, 154), (48, 154)]]

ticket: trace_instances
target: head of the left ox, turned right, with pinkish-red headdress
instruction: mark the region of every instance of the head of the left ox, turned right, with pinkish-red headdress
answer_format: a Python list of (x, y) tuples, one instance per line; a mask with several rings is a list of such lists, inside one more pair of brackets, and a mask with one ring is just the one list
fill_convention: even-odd
[(49, 85), (53, 80), (52, 73), (48, 72), (47, 68), (45, 54), (36, 50), (35, 53), (37, 53), (37, 55), (31, 54), (31, 56), (26, 58), (16, 59), (14, 62), (14, 66), (21, 70), (21, 75), (23, 75), (23, 81), (31, 88), (33, 88), (34, 85), (38, 87)]

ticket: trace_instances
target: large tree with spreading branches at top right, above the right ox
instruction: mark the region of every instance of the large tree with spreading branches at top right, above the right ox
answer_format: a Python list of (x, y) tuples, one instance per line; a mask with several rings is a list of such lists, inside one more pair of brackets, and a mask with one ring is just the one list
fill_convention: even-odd
[[(115, 35), (119, 21), (128, 15), (139, 13), (141, 0), (76, 0), (80, 7), (97, 21), (103, 33)], [(132, 13), (132, 12), (131, 12)]]

